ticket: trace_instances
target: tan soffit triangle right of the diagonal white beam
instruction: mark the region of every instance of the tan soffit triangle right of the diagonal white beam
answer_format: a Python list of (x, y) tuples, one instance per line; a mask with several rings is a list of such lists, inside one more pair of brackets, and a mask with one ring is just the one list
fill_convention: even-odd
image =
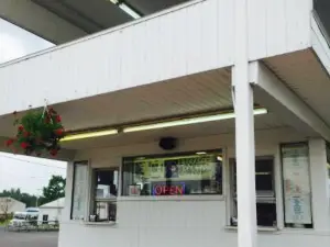
[(330, 78), (310, 49), (272, 57), (266, 65), (330, 125)]

